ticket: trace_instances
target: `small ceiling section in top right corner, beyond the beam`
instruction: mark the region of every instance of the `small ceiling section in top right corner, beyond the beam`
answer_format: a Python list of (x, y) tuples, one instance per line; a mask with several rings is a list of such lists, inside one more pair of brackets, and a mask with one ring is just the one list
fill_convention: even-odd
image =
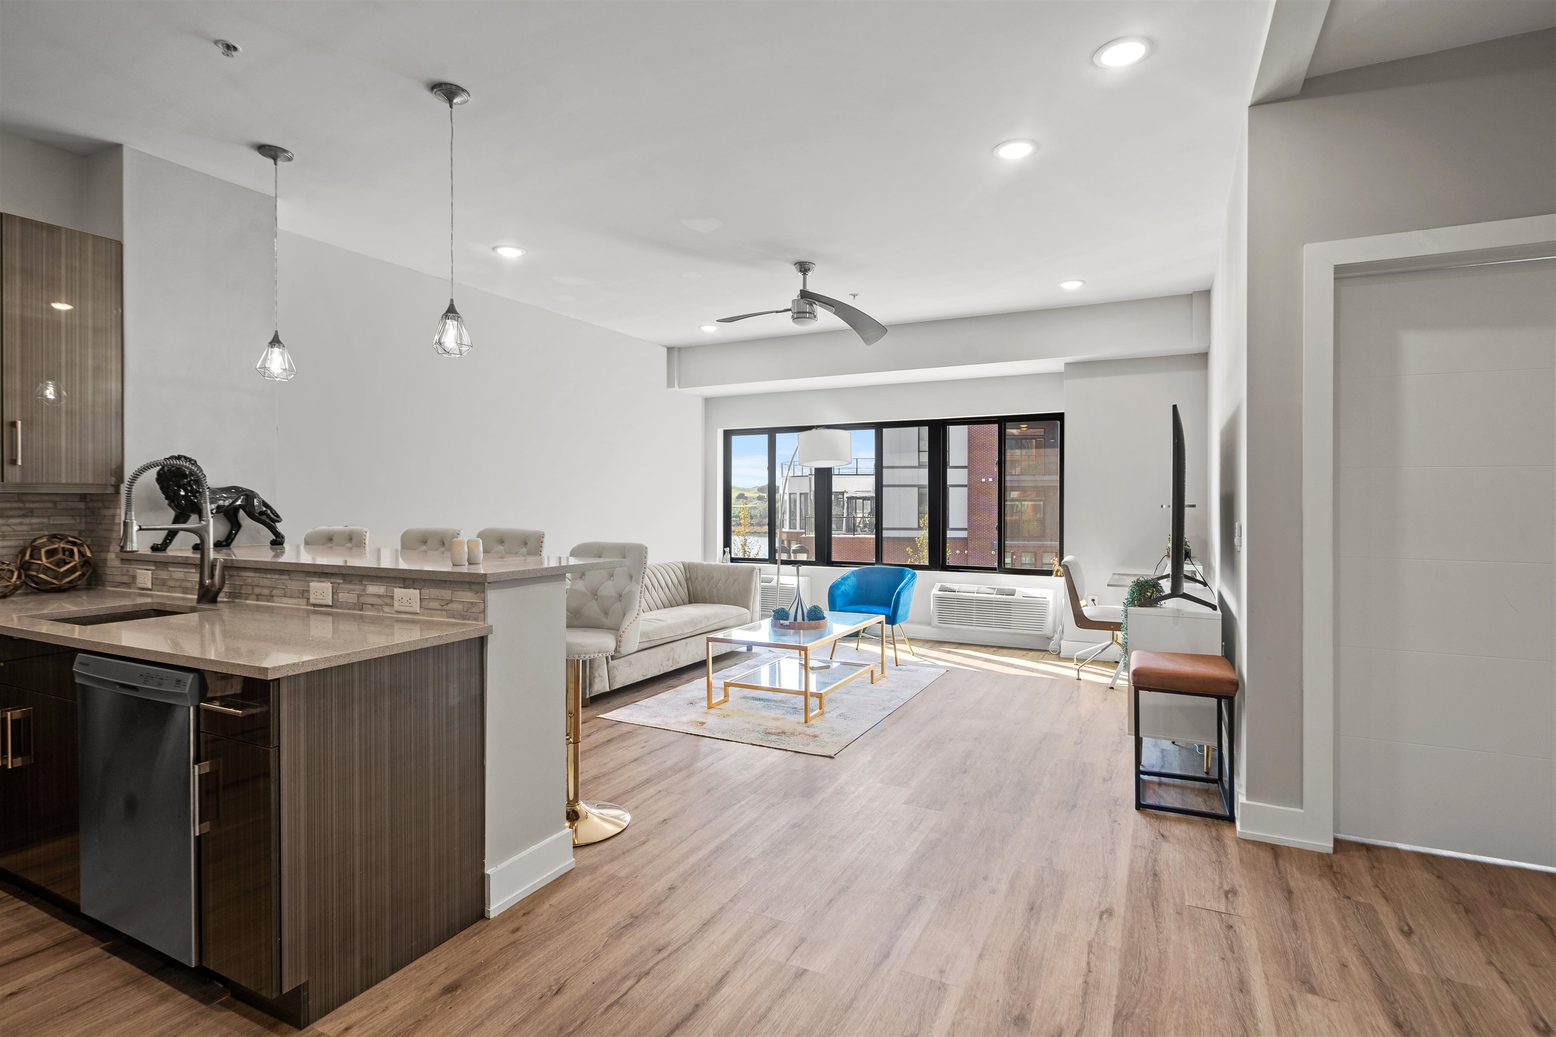
[(1556, 26), (1556, 0), (1330, 0), (1309, 76)]

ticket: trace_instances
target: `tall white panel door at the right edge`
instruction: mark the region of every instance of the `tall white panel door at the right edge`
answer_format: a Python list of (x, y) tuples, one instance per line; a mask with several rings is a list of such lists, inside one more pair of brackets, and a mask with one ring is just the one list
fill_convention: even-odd
[(1556, 864), (1556, 263), (1335, 288), (1335, 835)]

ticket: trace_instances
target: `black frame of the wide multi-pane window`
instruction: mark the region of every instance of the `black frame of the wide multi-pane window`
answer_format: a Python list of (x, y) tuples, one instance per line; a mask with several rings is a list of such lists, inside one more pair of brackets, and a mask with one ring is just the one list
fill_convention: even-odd
[[(731, 471), (731, 449), (736, 435), (767, 435), (767, 557), (766, 558), (734, 558), (731, 553), (731, 561), (744, 561), (752, 564), (770, 566), (773, 563), (792, 564), (798, 561), (804, 566), (828, 566), (837, 569), (854, 569), (859, 566), (876, 566), (876, 564), (904, 564), (909, 569), (923, 569), (930, 572), (1004, 572), (1016, 575), (1049, 575), (1049, 569), (1024, 569), (1018, 566), (1005, 564), (1005, 428), (1008, 423), (1019, 421), (1055, 421), (1060, 431), (1060, 499), (1058, 499), (1058, 533), (1060, 546), (1057, 558), (1064, 557), (1064, 451), (1066, 440), (1064, 435), (1064, 412), (1047, 412), (1047, 414), (1005, 414), (1005, 415), (972, 415), (965, 418), (923, 418), (916, 421), (843, 421), (832, 423), (828, 421), (825, 426), (817, 424), (778, 424), (778, 426), (762, 426), (748, 429), (724, 429), (724, 474), (719, 498), (722, 501), (722, 516), (719, 519), (720, 525), (720, 543), (724, 550), (733, 552), (734, 541), (731, 536), (731, 512), (733, 512), (733, 471)], [(946, 564), (946, 496), (948, 496), (948, 480), (946, 480), (946, 429), (952, 424), (994, 424), (999, 428), (999, 451), (996, 463), (999, 466), (999, 507), (994, 510), (999, 535), (997, 547), (997, 564), (994, 566), (952, 566)], [(812, 496), (812, 515), (815, 518), (815, 558), (778, 558), (778, 525), (780, 525), (780, 502), (778, 502), (778, 470), (786, 459), (778, 457), (778, 437), (786, 432), (804, 432), (814, 428), (828, 429), (846, 429), (850, 432), (859, 429), (874, 429), (876, 437), (876, 460), (874, 460), (874, 561), (834, 561), (832, 560), (832, 470), (820, 468), (812, 471), (811, 493)], [(881, 555), (885, 549), (884, 544), (884, 480), (885, 470), (881, 463), (881, 451), (884, 442), (884, 429), (902, 429), (902, 428), (927, 428), (929, 429), (929, 557), (924, 564), (912, 563), (884, 563)], [(825, 496), (823, 496), (825, 494)], [(817, 507), (817, 501), (825, 502), (823, 507)], [(935, 560), (940, 564), (935, 564)]]

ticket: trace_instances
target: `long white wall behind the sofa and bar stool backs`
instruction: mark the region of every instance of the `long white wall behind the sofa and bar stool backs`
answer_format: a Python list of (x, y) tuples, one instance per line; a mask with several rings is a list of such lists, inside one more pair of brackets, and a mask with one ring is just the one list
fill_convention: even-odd
[(703, 401), (663, 387), (663, 348), (487, 292), (456, 297), (475, 344), (464, 359), (433, 353), (447, 281), (282, 235), (297, 378), (274, 387), (272, 501), (288, 536), (366, 525), (397, 547), (408, 525), (520, 525), (545, 530), (548, 553), (629, 539), (650, 561), (697, 558)]

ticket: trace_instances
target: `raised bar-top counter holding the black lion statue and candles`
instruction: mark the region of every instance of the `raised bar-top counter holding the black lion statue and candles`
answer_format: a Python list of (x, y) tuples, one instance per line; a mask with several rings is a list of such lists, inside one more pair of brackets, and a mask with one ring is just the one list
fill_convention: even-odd
[[(293, 572), (339, 572), (415, 575), (429, 580), (465, 580), (470, 583), (510, 583), (515, 580), (538, 580), (560, 577), (591, 569), (616, 569), (627, 564), (621, 558), (568, 558), (555, 555), (487, 555), (478, 566), (456, 566), (447, 550), (400, 550), (398, 547), (303, 547), (286, 544), (241, 544), (219, 547), (218, 558), (227, 560), (227, 567), (237, 569), (285, 569)], [(199, 563), (199, 552), (176, 546), (166, 553), (151, 550), (121, 550), (121, 563)]]

